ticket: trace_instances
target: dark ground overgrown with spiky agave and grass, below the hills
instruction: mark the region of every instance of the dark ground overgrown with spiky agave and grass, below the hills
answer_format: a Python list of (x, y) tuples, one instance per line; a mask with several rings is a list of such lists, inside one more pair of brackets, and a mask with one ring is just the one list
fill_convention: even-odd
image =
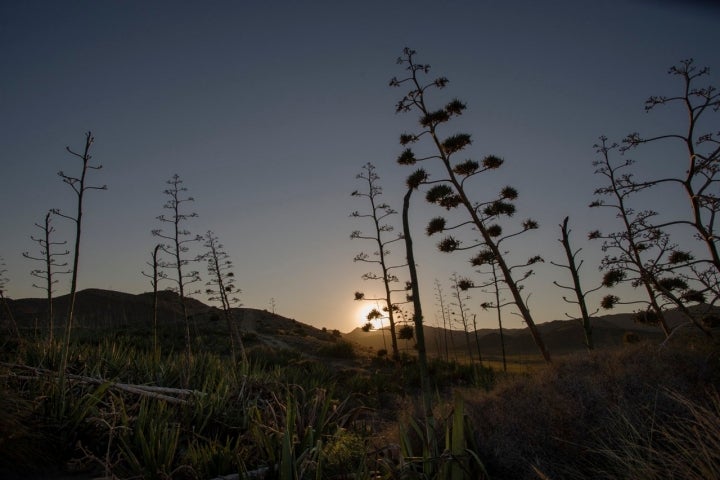
[[(96, 292), (97, 293), (97, 292)], [(128, 307), (129, 308), (129, 307)], [(107, 317), (107, 316), (106, 316)], [(60, 346), (24, 325), (3, 341), (3, 478), (713, 478), (720, 473), (720, 355), (698, 335), (646, 340), (552, 365), (532, 352), (430, 358), (438, 444), (423, 432), (417, 361), (399, 362), (267, 312), (246, 313), (247, 360), (197, 315), (178, 324), (81, 325)], [(691, 449), (686, 448), (692, 445)], [(44, 452), (41, 457), (37, 452)], [(667, 472), (675, 472), (668, 477)]]

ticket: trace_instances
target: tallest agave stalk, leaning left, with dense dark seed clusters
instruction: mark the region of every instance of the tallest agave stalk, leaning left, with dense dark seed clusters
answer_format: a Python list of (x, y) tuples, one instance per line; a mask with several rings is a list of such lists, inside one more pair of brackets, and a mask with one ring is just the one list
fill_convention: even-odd
[(448, 79), (439, 77), (424, 83), (421, 80), (421, 75), (428, 74), (430, 66), (416, 63), (414, 56), (414, 50), (406, 48), (403, 51), (403, 55), (398, 59), (398, 63), (405, 65), (405, 69), (409, 74), (407, 77), (401, 79), (393, 78), (390, 81), (390, 85), (393, 87), (400, 87), (406, 84), (410, 86), (410, 91), (397, 103), (397, 112), (417, 111), (420, 113), (420, 131), (401, 135), (400, 143), (401, 145), (407, 146), (429, 137), (429, 143), (432, 145), (434, 153), (424, 157), (418, 157), (415, 152), (408, 147), (400, 154), (397, 161), (401, 165), (414, 165), (417, 162), (427, 160), (439, 161), (443, 167), (444, 178), (424, 182), (425, 184), (433, 184), (426, 194), (426, 199), (428, 202), (444, 207), (447, 210), (462, 207), (470, 217), (468, 220), (452, 226), (448, 225), (442, 217), (435, 218), (430, 221), (427, 227), (427, 233), (432, 235), (434, 233), (453, 230), (461, 226), (471, 226), (477, 230), (481, 239), (476, 244), (462, 246), (459, 240), (452, 236), (447, 236), (440, 241), (438, 248), (443, 252), (453, 252), (480, 247), (480, 253), (473, 257), (471, 263), (474, 266), (485, 265), (488, 262), (495, 262), (497, 264), (502, 273), (503, 281), (507, 284), (512, 294), (514, 304), (519, 310), (523, 320), (525, 320), (535, 344), (545, 361), (550, 362), (550, 352), (545, 347), (545, 342), (521, 294), (521, 282), (532, 274), (532, 270), (526, 270), (519, 279), (516, 279), (513, 273), (513, 270), (517, 268), (528, 267), (538, 261), (542, 261), (542, 259), (535, 256), (524, 264), (511, 265), (508, 263), (506, 253), (499, 248), (499, 244), (503, 240), (537, 228), (537, 222), (534, 220), (526, 220), (523, 222), (520, 231), (503, 235), (503, 229), (497, 222), (502, 217), (510, 217), (515, 213), (515, 205), (511, 202), (517, 198), (517, 191), (512, 187), (502, 188), (499, 196), (490, 201), (475, 202), (470, 199), (465, 188), (466, 182), (481, 173), (499, 168), (503, 164), (503, 160), (490, 155), (485, 157), (482, 162), (471, 159), (459, 162), (455, 161), (455, 154), (462, 152), (470, 145), (470, 135), (459, 133), (441, 138), (440, 130), (441, 127), (453, 117), (461, 115), (466, 106), (460, 100), (455, 99), (441, 109), (432, 110), (426, 102), (428, 91), (435, 88), (444, 88), (448, 84)]

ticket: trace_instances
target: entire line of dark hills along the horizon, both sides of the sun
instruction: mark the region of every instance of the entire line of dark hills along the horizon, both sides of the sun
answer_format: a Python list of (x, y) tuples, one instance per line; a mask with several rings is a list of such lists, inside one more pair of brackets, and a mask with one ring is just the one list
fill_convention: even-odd
[[(53, 299), (55, 311), (55, 327), (59, 328), (65, 323), (65, 316), (69, 305), (69, 295)], [(172, 291), (158, 292), (158, 323), (173, 324), (183, 321), (178, 295)], [(47, 327), (47, 299), (24, 298), (18, 300), (8, 299), (8, 305), (21, 329)], [(76, 328), (126, 328), (148, 326), (152, 323), (152, 292), (130, 294), (112, 290), (86, 289), (77, 293), (75, 302)], [(221, 311), (192, 297), (187, 298), (187, 306), (194, 322), (219, 320)], [(266, 310), (253, 308), (234, 309), (240, 328), (246, 332), (258, 333), (266, 343), (277, 343), (277, 335), (283, 332), (300, 331), (306, 337), (325, 339), (330, 332), (310, 325), (288, 319)], [(668, 312), (673, 324), (681, 322), (677, 312)], [(4, 315), (3, 322), (6, 321)], [(604, 315), (592, 319), (593, 341), (596, 347), (620, 346), (626, 332), (636, 333), (640, 338), (661, 341), (663, 334), (658, 327), (638, 324), (629, 313)], [(547, 348), (556, 354), (582, 350), (584, 348), (584, 332), (577, 320), (554, 320), (538, 324), (538, 329)], [(501, 343), (498, 329), (480, 329), (470, 332), (466, 338), (465, 332), (430, 325), (424, 326), (426, 345), (429, 353), (441, 353), (445, 349), (447, 338), (448, 348), (463, 352), (468, 351), (468, 343), (473, 351), (477, 351), (478, 344), (483, 354), (500, 355)], [(383, 333), (385, 340), (383, 340)], [(477, 335), (476, 335), (477, 333)], [(527, 328), (503, 329), (506, 350), (510, 354), (535, 354), (532, 336)], [(332, 334), (337, 338), (340, 332)], [(297, 337), (298, 335), (294, 335)], [(359, 344), (372, 350), (389, 349), (390, 339), (387, 331), (364, 332), (360, 328), (341, 335), (343, 339)], [(414, 340), (398, 340), (402, 350), (412, 350)], [(292, 343), (292, 342), (291, 342)]]

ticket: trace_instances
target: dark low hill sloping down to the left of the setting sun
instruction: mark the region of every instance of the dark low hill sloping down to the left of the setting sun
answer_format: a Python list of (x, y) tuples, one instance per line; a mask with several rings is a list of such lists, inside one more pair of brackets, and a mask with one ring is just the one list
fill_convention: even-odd
[[(68, 302), (69, 295), (54, 299), (56, 334), (62, 331), (65, 324)], [(8, 305), (22, 331), (41, 332), (47, 328), (47, 299), (8, 299)], [(134, 295), (99, 289), (80, 291), (75, 306), (75, 331), (100, 332), (103, 336), (148, 335), (152, 328), (152, 305), (153, 294), (150, 292)], [(187, 299), (187, 305), (194, 335), (208, 342), (208, 348), (224, 348), (227, 344), (227, 326), (222, 311), (193, 298)], [(265, 346), (308, 356), (343, 354), (339, 331), (316, 328), (255, 308), (235, 308), (233, 319), (249, 348)], [(0, 317), (0, 323), (4, 321)], [(171, 342), (180, 340), (180, 336), (172, 333), (180, 330), (163, 327), (182, 322), (178, 295), (171, 291), (159, 292), (158, 325), (161, 336), (170, 338)], [(174, 346), (181, 347), (180, 344)], [(357, 345), (355, 347), (354, 354), (362, 356), (364, 349)]]

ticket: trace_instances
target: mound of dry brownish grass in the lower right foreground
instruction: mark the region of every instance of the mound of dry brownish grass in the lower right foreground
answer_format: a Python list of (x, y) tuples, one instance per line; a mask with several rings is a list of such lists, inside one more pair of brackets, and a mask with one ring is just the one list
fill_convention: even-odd
[(478, 454), (496, 479), (720, 478), (693, 476), (720, 468), (718, 367), (710, 344), (557, 359), (466, 392)]

